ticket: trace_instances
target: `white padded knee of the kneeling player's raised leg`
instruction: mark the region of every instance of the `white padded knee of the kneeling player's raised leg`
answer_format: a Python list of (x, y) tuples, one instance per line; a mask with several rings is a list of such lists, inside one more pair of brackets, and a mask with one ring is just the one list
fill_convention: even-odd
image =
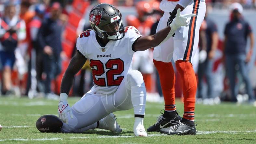
[(127, 83), (130, 89), (145, 87), (142, 74), (138, 70), (131, 70), (127, 73)]

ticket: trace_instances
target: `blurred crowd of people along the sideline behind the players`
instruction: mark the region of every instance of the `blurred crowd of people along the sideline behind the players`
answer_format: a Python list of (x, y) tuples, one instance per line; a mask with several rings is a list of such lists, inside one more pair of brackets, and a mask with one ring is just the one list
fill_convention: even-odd
[[(158, 0), (0, 0), (1, 96), (57, 99), (61, 78), (76, 52), (76, 38), (90, 29), (88, 14), (98, 3), (117, 6), (126, 26), (155, 34), (163, 12)], [(198, 56), (197, 102), (253, 103), (256, 91), (256, 0), (206, 0)], [(175, 65), (173, 65), (175, 66)], [(133, 69), (141, 71), (147, 100), (162, 102), (153, 49), (136, 52)], [(182, 97), (176, 73), (175, 95)], [(83, 96), (93, 86), (87, 61), (76, 75), (70, 95)]]

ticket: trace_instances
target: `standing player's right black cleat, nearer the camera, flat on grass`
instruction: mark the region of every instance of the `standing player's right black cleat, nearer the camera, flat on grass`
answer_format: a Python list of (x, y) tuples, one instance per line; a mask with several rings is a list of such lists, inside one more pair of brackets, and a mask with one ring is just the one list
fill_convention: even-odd
[(178, 121), (178, 124), (160, 129), (160, 133), (167, 135), (196, 135), (196, 125), (188, 126), (186, 123)]

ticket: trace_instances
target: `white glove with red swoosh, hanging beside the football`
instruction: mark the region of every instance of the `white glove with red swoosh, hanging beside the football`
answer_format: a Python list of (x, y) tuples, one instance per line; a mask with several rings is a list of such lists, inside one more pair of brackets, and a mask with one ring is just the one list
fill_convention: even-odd
[(59, 96), (59, 105), (58, 105), (58, 115), (59, 118), (66, 124), (68, 124), (69, 115), (70, 118), (73, 118), (73, 113), (67, 102), (68, 95), (66, 93), (61, 93)]

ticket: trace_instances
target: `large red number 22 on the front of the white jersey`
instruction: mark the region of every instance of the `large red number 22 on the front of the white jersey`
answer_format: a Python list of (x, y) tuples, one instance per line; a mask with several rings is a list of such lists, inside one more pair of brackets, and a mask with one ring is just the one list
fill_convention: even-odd
[[(106, 69), (109, 69), (106, 72), (106, 79), (105, 78), (98, 78), (96, 76), (101, 76), (105, 73), (104, 64), (100, 60), (90, 60), (90, 66), (92, 68), (93, 80), (94, 84), (101, 86), (101, 87), (110, 87), (110, 86), (119, 86), (124, 78), (124, 76), (117, 77), (114, 79), (115, 75), (121, 75), (124, 71), (124, 63), (122, 59), (109, 59), (105, 64)], [(116, 68), (114, 68), (116, 66)]]

